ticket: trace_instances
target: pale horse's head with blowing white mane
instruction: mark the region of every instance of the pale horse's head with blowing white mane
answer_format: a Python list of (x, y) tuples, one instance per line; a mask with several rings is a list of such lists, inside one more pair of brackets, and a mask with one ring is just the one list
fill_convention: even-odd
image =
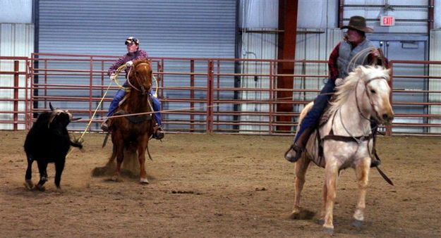
[(354, 89), (363, 91), (356, 93), (358, 111), (370, 111), (370, 117), (377, 123), (390, 124), (394, 111), (389, 101), (391, 89), (388, 81), (389, 70), (378, 66), (358, 66), (344, 79), (344, 84), (337, 87), (336, 102), (342, 104)]

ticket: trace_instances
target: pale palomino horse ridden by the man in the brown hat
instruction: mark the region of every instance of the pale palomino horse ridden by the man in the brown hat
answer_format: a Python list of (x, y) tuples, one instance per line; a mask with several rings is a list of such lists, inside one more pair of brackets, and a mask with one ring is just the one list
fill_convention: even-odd
[[(301, 213), (301, 191), (306, 170), (310, 161), (313, 161), (325, 168), (320, 218), (325, 232), (334, 232), (332, 209), (336, 197), (337, 177), (340, 170), (349, 167), (355, 169), (360, 189), (353, 225), (362, 225), (370, 161), (373, 156), (373, 135), (369, 119), (374, 118), (379, 124), (389, 124), (394, 118), (389, 102), (391, 89), (387, 84), (388, 80), (389, 70), (385, 68), (358, 66), (344, 79), (343, 84), (337, 87), (335, 100), (331, 103), (330, 113), (327, 114), (330, 115), (329, 120), (311, 134), (306, 144), (306, 152), (296, 162), (296, 196), (292, 218)], [(311, 102), (303, 109), (299, 125), (312, 106)]]

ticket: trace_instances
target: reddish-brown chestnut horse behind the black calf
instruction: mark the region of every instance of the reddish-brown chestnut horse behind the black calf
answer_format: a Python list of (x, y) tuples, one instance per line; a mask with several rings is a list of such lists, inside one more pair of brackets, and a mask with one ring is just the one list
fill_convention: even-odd
[(147, 60), (133, 62), (127, 78), (127, 84), (130, 85), (130, 88), (126, 94), (126, 101), (119, 106), (114, 115), (136, 113), (140, 115), (127, 115), (111, 119), (109, 131), (111, 132), (111, 141), (114, 148), (110, 161), (113, 161), (116, 156), (116, 170), (112, 180), (119, 180), (124, 149), (126, 149), (128, 154), (135, 154), (138, 151), (140, 182), (147, 184), (145, 151), (148, 150), (148, 140), (153, 132), (152, 113), (148, 113), (153, 111), (150, 101), (150, 89), (152, 88), (150, 63)]

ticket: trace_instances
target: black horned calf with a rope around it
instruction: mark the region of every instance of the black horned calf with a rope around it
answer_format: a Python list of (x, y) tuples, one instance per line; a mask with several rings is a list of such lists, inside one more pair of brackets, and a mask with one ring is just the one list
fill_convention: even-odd
[(37, 161), (40, 171), (40, 182), (37, 189), (44, 191), (43, 184), (47, 181), (47, 164), (55, 163), (55, 185), (60, 188), (61, 173), (63, 173), (66, 154), (71, 146), (83, 148), (81, 142), (71, 141), (67, 125), (73, 120), (71, 113), (60, 109), (54, 109), (49, 103), (51, 111), (40, 114), (37, 122), (32, 125), (25, 140), (25, 152), (28, 157), (28, 169), (26, 170), (26, 186), (32, 189), (32, 162)]

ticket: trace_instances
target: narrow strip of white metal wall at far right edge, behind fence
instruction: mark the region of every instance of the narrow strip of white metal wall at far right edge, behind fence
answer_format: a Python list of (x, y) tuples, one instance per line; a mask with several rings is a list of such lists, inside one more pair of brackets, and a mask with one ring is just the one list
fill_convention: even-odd
[[(430, 32), (430, 61), (441, 61), (441, 29), (432, 30)], [(441, 77), (441, 65), (430, 65), (430, 76)], [(441, 80), (430, 79), (429, 80), (430, 91), (441, 91)], [(429, 102), (440, 103), (441, 94), (429, 94)], [(441, 106), (429, 106), (429, 113), (441, 115)], [(430, 119), (429, 123), (441, 124), (441, 119)], [(440, 127), (430, 127), (432, 133), (440, 133)]]

